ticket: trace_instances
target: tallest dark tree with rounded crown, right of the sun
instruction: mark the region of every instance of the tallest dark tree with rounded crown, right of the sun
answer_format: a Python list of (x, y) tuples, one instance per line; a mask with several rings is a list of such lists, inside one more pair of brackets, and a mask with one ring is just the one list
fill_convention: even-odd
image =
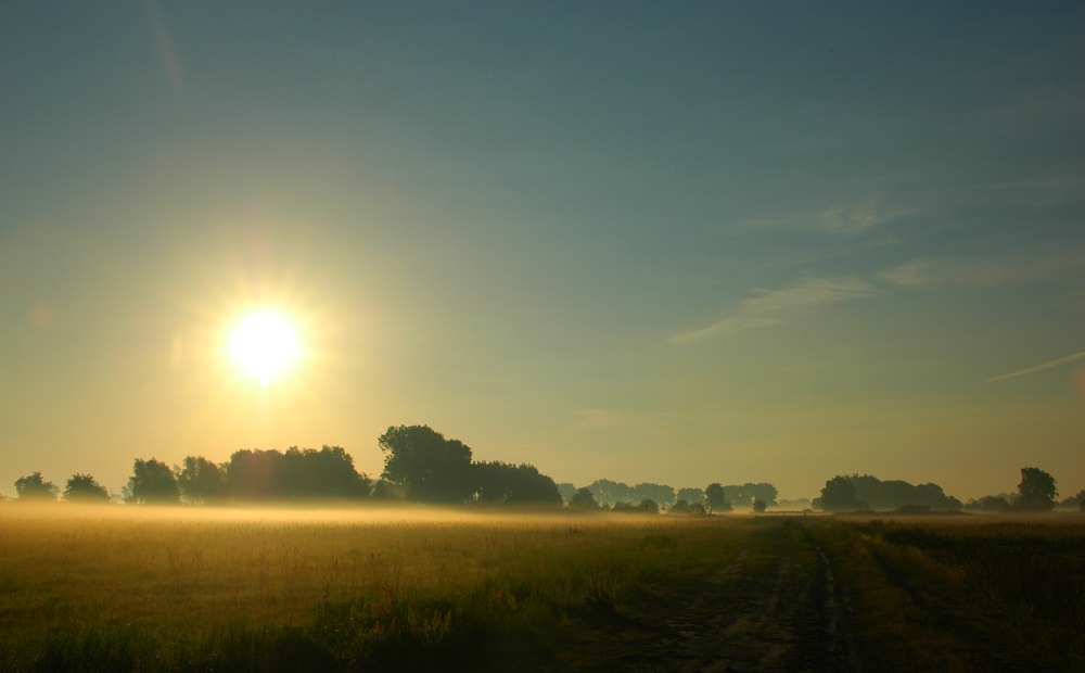
[(471, 447), (459, 440), (429, 426), (393, 426), (376, 443), (385, 453), (381, 475), (407, 486), (409, 499), (464, 503), (476, 492)]

